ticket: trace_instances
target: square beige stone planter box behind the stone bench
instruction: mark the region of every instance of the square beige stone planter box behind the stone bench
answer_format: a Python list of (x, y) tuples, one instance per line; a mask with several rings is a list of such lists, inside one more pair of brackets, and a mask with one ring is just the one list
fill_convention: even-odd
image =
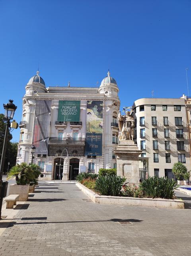
[(10, 185), (9, 195), (10, 194), (19, 194), (17, 201), (27, 201), (29, 197), (29, 185)]

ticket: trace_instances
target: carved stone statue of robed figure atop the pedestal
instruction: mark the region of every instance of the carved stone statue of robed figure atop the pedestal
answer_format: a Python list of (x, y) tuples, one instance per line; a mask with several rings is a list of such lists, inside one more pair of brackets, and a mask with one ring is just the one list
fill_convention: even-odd
[[(125, 108), (124, 108), (125, 109)], [(126, 108), (127, 110), (127, 108)], [(134, 119), (131, 115), (130, 111), (125, 111), (126, 115), (121, 115), (121, 111), (119, 111), (118, 121), (119, 121), (119, 131), (121, 134), (119, 135), (119, 140), (133, 140), (134, 138)]]

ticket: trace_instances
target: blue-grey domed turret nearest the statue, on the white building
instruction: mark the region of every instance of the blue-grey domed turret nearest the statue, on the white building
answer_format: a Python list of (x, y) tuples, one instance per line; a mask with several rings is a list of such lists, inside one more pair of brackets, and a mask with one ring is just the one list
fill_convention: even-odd
[(117, 82), (113, 77), (110, 76), (110, 72), (108, 71), (107, 76), (103, 78), (101, 81), (101, 85), (98, 89), (99, 93), (104, 93), (107, 97), (117, 97), (117, 93), (119, 92), (119, 88), (117, 86)]

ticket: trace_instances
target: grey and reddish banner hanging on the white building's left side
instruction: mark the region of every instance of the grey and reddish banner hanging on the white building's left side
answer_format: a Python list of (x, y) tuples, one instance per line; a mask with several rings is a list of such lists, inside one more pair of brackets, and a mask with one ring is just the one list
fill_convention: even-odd
[(48, 154), (51, 101), (36, 102), (33, 145), (35, 154)]

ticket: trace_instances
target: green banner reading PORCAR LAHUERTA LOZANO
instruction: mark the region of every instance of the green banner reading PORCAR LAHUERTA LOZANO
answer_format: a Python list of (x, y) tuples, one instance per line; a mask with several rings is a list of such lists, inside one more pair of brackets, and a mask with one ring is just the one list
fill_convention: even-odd
[(80, 121), (80, 101), (59, 101), (58, 121)]

